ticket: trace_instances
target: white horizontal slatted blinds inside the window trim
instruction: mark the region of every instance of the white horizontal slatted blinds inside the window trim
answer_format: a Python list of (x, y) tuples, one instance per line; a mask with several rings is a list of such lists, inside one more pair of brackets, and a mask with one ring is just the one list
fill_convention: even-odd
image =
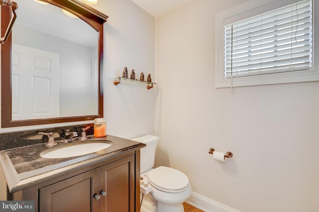
[(224, 76), (310, 70), (312, 0), (224, 26)]

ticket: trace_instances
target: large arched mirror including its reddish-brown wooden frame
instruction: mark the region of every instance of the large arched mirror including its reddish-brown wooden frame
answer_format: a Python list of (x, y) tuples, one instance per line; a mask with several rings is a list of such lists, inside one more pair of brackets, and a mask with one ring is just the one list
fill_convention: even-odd
[[(103, 117), (108, 16), (80, 0), (16, 2), (17, 19), (1, 45), (2, 128)], [(1, 6), (2, 25), (9, 19), (9, 8)]]

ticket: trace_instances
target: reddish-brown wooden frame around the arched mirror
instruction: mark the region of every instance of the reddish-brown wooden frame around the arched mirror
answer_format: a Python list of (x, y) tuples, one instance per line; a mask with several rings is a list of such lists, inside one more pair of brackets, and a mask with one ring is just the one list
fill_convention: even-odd
[[(89, 121), (103, 117), (103, 23), (108, 16), (79, 0), (42, 0), (63, 8), (81, 18), (98, 32), (98, 114), (75, 117), (58, 117), (49, 119), (12, 120), (12, 89), (11, 89), (11, 33), (8, 39), (1, 44), (1, 127), (20, 127), (30, 125), (54, 124), (63, 122)], [(17, 12), (17, 16), (18, 16)], [(41, 18), (41, 17), (39, 17)], [(11, 19), (11, 10), (8, 6), (1, 6), (1, 35)], [(80, 95), (80, 93), (79, 93)]]

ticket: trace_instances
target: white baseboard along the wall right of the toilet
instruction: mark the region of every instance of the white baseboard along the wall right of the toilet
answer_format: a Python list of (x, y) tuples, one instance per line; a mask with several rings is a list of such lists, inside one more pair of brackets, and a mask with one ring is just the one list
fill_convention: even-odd
[(186, 203), (204, 212), (240, 212), (194, 192), (191, 193)]

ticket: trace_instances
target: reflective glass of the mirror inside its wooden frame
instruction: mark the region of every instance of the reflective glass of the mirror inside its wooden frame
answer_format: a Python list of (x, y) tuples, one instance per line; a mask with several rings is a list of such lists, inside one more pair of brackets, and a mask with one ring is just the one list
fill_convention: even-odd
[(16, 0), (12, 120), (98, 114), (98, 32), (61, 8)]

